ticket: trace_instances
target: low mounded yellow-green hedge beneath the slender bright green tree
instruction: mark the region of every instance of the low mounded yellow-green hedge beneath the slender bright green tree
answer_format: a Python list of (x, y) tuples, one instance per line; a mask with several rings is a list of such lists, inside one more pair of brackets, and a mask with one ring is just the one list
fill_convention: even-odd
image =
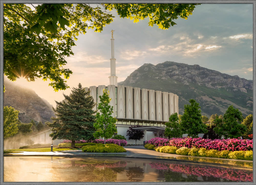
[(94, 145), (85, 145), (82, 147), (83, 152), (99, 152), (99, 153), (116, 153), (116, 152), (126, 152), (124, 147), (117, 144), (107, 143), (97, 143)]

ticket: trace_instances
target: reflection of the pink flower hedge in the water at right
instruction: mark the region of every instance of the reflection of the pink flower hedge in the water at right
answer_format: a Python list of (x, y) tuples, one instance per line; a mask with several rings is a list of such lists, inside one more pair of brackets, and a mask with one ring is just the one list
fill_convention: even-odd
[(247, 173), (243, 170), (236, 170), (230, 168), (215, 168), (215, 167), (199, 167), (185, 164), (163, 164), (150, 163), (151, 168), (155, 169), (170, 169), (174, 172), (183, 173), (186, 175), (196, 176), (212, 176), (216, 178), (228, 179), (232, 181), (253, 181), (253, 173)]

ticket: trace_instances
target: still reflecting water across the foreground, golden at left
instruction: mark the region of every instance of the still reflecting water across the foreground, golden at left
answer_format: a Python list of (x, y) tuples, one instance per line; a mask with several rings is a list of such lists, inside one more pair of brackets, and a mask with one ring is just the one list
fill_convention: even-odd
[(4, 157), (4, 182), (251, 181), (252, 169), (110, 157)]

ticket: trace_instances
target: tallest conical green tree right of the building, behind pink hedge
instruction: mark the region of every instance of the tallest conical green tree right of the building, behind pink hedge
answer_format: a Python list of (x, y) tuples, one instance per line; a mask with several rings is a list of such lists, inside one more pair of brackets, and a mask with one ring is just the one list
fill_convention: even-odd
[(201, 110), (199, 103), (195, 100), (189, 100), (190, 105), (184, 105), (184, 114), (181, 117), (180, 126), (183, 133), (188, 136), (197, 138), (199, 133), (206, 133), (206, 125), (201, 119)]

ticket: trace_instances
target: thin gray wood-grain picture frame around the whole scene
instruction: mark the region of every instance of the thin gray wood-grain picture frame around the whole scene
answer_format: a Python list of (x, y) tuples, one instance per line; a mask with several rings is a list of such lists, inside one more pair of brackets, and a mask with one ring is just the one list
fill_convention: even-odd
[(205, 4), (253, 4), (253, 151), (255, 150), (255, 139), (256, 139), (256, 93), (255, 93), (255, 88), (256, 88), (256, 52), (255, 52), (255, 32), (256, 32), (256, 27), (255, 27), (255, 10), (256, 10), (256, 0), (227, 0), (227, 1), (205, 1), (205, 0), (199, 0), (199, 1), (186, 1), (186, 0), (176, 0), (176, 1), (125, 1), (125, 0), (105, 0), (105, 1), (96, 1), (96, 0), (56, 0), (56, 1), (31, 1), (31, 0), (2, 0), (0, 3), (0, 184), (256, 184), (256, 170), (255, 170), (255, 161), (256, 161), (256, 154), (255, 152), (253, 153), (253, 182), (3, 182), (3, 173), (4, 173), (4, 160), (3, 160), (3, 107), (4, 107), (4, 99), (3, 99), (3, 83), (4, 83), (4, 74), (3, 74), (3, 4), (4, 3), (205, 3)]

